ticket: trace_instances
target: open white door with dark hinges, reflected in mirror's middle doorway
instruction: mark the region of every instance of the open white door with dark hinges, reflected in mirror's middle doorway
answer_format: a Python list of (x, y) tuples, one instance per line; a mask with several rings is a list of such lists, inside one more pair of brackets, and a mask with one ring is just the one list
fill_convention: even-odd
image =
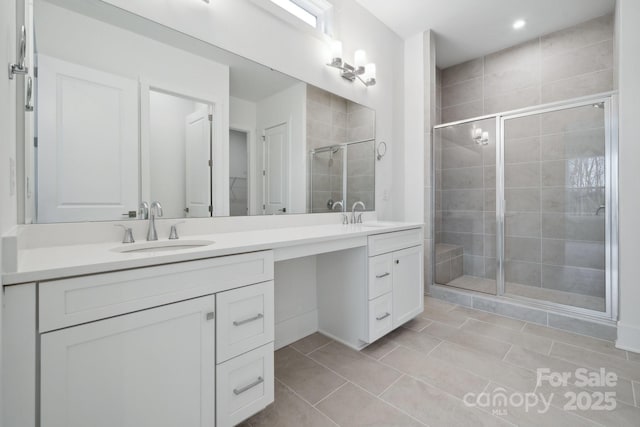
[(202, 109), (186, 119), (186, 186), (187, 217), (213, 216), (211, 202), (211, 134), (212, 115)]

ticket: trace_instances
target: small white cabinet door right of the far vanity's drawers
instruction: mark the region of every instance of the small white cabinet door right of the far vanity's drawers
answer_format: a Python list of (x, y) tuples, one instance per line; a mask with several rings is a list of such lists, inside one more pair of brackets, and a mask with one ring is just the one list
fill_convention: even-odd
[(393, 253), (393, 327), (413, 319), (424, 309), (422, 246)]

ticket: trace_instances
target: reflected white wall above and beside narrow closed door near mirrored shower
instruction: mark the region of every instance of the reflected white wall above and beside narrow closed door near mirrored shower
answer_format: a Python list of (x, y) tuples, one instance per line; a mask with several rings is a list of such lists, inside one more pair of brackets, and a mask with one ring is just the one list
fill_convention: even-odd
[[(289, 202), (287, 211), (305, 213), (307, 210), (307, 157), (306, 157), (306, 113), (307, 85), (296, 83), (288, 89), (260, 100), (256, 104), (256, 128), (259, 135), (270, 127), (287, 123), (289, 130)], [(257, 144), (256, 165), (262, 166), (262, 145)], [(262, 203), (260, 191), (254, 192)]]

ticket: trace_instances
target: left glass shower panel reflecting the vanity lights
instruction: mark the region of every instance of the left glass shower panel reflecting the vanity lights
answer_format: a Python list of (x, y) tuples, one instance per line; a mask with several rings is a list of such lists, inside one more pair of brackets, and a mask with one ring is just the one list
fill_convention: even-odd
[(496, 294), (497, 119), (434, 129), (434, 281)]

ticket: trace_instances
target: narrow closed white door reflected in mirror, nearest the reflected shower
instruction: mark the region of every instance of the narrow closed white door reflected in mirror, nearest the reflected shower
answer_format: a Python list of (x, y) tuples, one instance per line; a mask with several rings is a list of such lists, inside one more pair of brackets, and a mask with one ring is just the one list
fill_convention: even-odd
[(287, 212), (289, 197), (289, 132), (283, 123), (264, 133), (264, 202), (267, 215)]

